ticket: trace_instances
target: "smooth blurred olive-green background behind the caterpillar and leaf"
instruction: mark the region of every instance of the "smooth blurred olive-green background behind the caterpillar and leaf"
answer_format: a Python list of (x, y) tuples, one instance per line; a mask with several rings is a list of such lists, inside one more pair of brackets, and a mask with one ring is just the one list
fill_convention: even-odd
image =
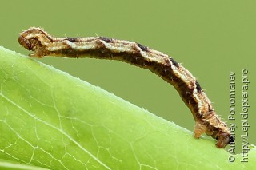
[[(18, 33), (40, 26), (56, 37), (104, 36), (139, 42), (189, 69), (214, 108), (237, 125), (241, 152), (242, 69), (250, 78), (250, 143), (256, 144), (256, 1), (2, 1), (0, 45), (27, 55)], [(38, 61), (98, 85), (166, 120), (194, 129), (174, 88), (145, 69), (120, 61), (46, 57)], [(228, 121), (229, 74), (236, 73), (236, 121)]]

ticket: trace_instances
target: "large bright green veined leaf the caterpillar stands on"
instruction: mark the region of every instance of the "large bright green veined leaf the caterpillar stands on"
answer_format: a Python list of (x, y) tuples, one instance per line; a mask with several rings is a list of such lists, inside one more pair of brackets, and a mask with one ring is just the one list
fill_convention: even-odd
[(214, 140), (196, 140), (185, 128), (29, 57), (1, 47), (0, 63), (1, 160), (50, 169), (253, 169), (256, 164), (255, 148), (249, 163), (240, 163), (241, 155), (230, 163), (232, 155)]

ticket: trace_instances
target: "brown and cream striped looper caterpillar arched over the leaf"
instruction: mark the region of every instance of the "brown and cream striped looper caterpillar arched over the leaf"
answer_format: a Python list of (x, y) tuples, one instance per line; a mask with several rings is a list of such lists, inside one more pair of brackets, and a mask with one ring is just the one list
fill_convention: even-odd
[(225, 148), (230, 140), (230, 129), (215, 113), (206, 93), (192, 74), (168, 55), (136, 42), (114, 38), (53, 38), (46, 31), (31, 27), (23, 31), (18, 42), (34, 51), (30, 57), (94, 57), (119, 60), (150, 69), (178, 91), (180, 97), (193, 114), (194, 137), (206, 132), (217, 140), (218, 148)]

